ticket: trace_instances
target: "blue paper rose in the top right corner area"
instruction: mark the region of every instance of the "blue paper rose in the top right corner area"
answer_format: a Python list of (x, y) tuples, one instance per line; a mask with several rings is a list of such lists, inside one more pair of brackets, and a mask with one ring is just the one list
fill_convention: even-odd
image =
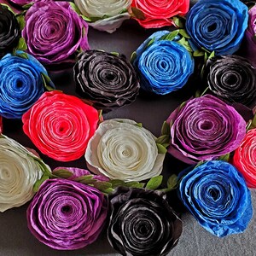
[(231, 55), (240, 48), (248, 9), (239, 0), (200, 0), (189, 10), (186, 29), (199, 48)]

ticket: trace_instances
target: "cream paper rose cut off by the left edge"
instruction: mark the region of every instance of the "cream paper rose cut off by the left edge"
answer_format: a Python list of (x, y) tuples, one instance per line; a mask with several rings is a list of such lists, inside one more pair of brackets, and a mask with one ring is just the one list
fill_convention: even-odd
[(15, 140), (0, 135), (0, 212), (20, 207), (35, 194), (33, 185), (45, 170), (43, 160)]

